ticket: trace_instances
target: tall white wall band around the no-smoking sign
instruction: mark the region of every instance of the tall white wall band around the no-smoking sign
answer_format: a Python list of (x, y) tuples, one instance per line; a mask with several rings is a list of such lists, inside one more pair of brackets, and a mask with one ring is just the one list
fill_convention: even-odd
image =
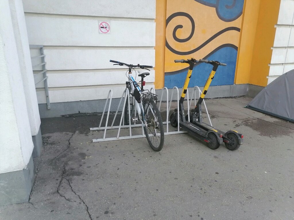
[(155, 46), (155, 23), (110, 21), (110, 34), (99, 33), (99, 18), (26, 15), (29, 43), (56, 46)]

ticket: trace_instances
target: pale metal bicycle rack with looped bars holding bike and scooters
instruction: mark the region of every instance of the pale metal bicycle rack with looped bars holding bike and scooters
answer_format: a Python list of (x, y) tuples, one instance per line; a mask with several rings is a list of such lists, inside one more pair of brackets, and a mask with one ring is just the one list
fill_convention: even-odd
[[(192, 93), (192, 96), (191, 96), (191, 99), (189, 100), (189, 92), (187, 90), (187, 109), (188, 109), (188, 112), (190, 110), (190, 106), (192, 104), (192, 101), (193, 101), (193, 97), (194, 97), (194, 101), (195, 101), (195, 105), (196, 105), (196, 90), (198, 90), (198, 98), (200, 97), (200, 94), (201, 94), (201, 90), (199, 89), (198, 86), (194, 87), (193, 88), (193, 93)], [(150, 92), (153, 91), (153, 93), (155, 94), (155, 89), (154, 88), (151, 88), (150, 89)], [(177, 101), (177, 108), (178, 108), (178, 122), (180, 120), (180, 116), (179, 116), (179, 89), (178, 87), (173, 87), (172, 89), (172, 92), (171, 92), (171, 97), (170, 97), (170, 101), (168, 101), (168, 88), (164, 87), (162, 89), (162, 92), (161, 92), (161, 98), (160, 98), (160, 101), (159, 101), (159, 111), (161, 109), (161, 103), (162, 103), (162, 99), (163, 99), (163, 93), (166, 91), (166, 121), (163, 122), (164, 125), (166, 125), (166, 132), (164, 132), (164, 135), (169, 135), (169, 134), (181, 134), (181, 133), (187, 133), (186, 131), (180, 131), (180, 125), (178, 123), (178, 129), (177, 131), (169, 131), (168, 129), (168, 124), (170, 123), (169, 120), (169, 112), (170, 112), (170, 109), (171, 109), (171, 103), (173, 100), (173, 96), (174, 96), (174, 91), (176, 91), (176, 101)], [(102, 141), (115, 141), (115, 140), (123, 140), (123, 139), (131, 139), (131, 138), (145, 138), (145, 133), (144, 133), (144, 129), (143, 129), (143, 124), (142, 123), (134, 123), (134, 124), (131, 124), (131, 115), (130, 115), (130, 105), (128, 105), (128, 119), (129, 119), (129, 124), (128, 125), (124, 125), (124, 111), (125, 111), (125, 105), (126, 105), (126, 100), (127, 99), (130, 99), (130, 93), (129, 93), (129, 90), (128, 89), (125, 89), (123, 94), (121, 95), (121, 99), (119, 101), (119, 104), (118, 104), (118, 108), (116, 110), (116, 113), (114, 115), (114, 118), (113, 118), (113, 121), (111, 123), (111, 126), (108, 126), (108, 119), (109, 119), (109, 113), (110, 113), (110, 107), (111, 107), (111, 101), (112, 101), (112, 95), (113, 95), (113, 92), (112, 92), (112, 89), (109, 90), (108, 92), (108, 96), (107, 96), (107, 99), (106, 99), (106, 102), (105, 102), (105, 105), (104, 105), (104, 109), (103, 109), (103, 113), (102, 113), (102, 116), (101, 116), (101, 119), (100, 119), (100, 123), (99, 123), (99, 127), (96, 127), (96, 128), (90, 128), (90, 131), (95, 131), (95, 130), (104, 130), (104, 133), (103, 133), (103, 138), (98, 138), (98, 139), (93, 139), (92, 141), (93, 142), (102, 142)], [(132, 96), (132, 98), (134, 99), (134, 97)], [(123, 101), (123, 106), (122, 106), (122, 113), (121, 113), (121, 118), (120, 118), (120, 123), (118, 126), (113, 126), (114, 124), (114, 121), (116, 119), (116, 116), (118, 114), (118, 111), (121, 107), (121, 103)], [(109, 104), (108, 104), (109, 103)], [(190, 104), (189, 104), (190, 103)], [(102, 120), (103, 120), (103, 116), (105, 114), (105, 110), (106, 110), (106, 106), (108, 104), (108, 111), (107, 111), (107, 116), (106, 116), (106, 122), (105, 122), (105, 126), (104, 127), (101, 127), (101, 124), (102, 124)], [(206, 110), (206, 113), (207, 113), (207, 116), (208, 116), (208, 120), (211, 124), (211, 120), (210, 120), (210, 117), (209, 117), (209, 114), (208, 114), (208, 111), (207, 111), (207, 108), (206, 108), (206, 104), (203, 100), (203, 104), (205, 106), (205, 110)], [(137, 116), (138, 112), (136, 110), (136, 105), (135, 105), (135, 111), (134, 111), (134, 114), (135, 116)], [(190, 120), (190, 116), (188, 114), (188, 120)], [(211, 124), (212, 125), (212, 124)], [(142, 134), (140, 135), (132, 135), (132, 129), (133, 127), (142, 127)], [(121, 128), (129, 128), (129, 136), (119, 136), (120, 134), (120, 131), (121, 131)], [(109, 130), (109, 129), (118, 129), (118, 133), (117, 133), (117, 136), (116, 137), (111, 137), (111, 138), (106, 138), (106, 131)]]

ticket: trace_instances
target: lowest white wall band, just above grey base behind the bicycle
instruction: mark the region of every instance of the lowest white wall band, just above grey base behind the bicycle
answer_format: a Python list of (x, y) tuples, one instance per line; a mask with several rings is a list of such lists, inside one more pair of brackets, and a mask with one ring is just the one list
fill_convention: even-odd
[[(154, 85), (146, 85), (146, 89), (150, 89)], [(120, 98), (123, 91), (126, 89), (125, 85), (118, 87), (102, 87), (102, 88), (85, 88), (85, 89), (64, 89), (64, 90), (49, 90), (50, 102), (67, 102), (67, 101), (85, 101), (106, 99), (109, 90), (113, 91), (113, 98)], [(37, 92), (38, 103), (46, 103), (45, 91)]]

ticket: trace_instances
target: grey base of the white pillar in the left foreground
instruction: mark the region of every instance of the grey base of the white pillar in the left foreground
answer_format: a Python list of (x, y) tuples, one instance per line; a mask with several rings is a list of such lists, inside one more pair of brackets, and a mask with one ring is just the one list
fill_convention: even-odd
[(23, 170), (0, 174), (0, 206), (28, 202), (34, 183), (34, 163), (31, 157)]

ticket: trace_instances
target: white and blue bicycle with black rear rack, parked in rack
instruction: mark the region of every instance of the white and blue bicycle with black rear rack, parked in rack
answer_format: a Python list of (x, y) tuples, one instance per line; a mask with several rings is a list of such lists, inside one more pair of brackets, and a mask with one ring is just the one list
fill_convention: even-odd
[[(138, 75), (139, 77), (141, 77), (141, 81), (140, 81), (141, 87), (135, 81), (136, 77), (134, 79), (132, 76), (132, 71), (135, 70), (135, 68), (141, 68), (141, 69), (150, 71), (147, 68), (152, 68), (152, 66), (139, 65), (139, 64), (132, 65), (132, 64), (126, 64), (123, 62), (115, 61), (115, 60), (109, 60), (109, 62), (116, 63), (113, 65), (128, 67), (128, 72), (126, 72), (126, 74), (128, 73), (128, 76), (127, 76), (128, 81), (126, 82), (126, 89), (128, 89), (130, 97), (126, 99), (127, 102), (123, 110), (124, 123), (129, 124), (128, 106), (130, 106), (130, 116), (131, 116), (130, 121), (134, 123), (140, 120), (143, 125), (143, 130), (150, 147), (154, 151), (160, 151), (164, 143), (164, 130), (163, 130), (161, 115), (155, 103), (155, 101), (157, 100), (157, 95), (150, 92), (148, 89), (143, 89), (143, 87), (145, 86), (144, 78), (150, 75), (150, 73), (142, 72), (141, 74)], [(136, 115), (136, 112), (134, 112), (135, 105), (136, 105), (138, 115), (141, 116), (140, 119), (137, 116), (132, 117), (134, 114)]]

